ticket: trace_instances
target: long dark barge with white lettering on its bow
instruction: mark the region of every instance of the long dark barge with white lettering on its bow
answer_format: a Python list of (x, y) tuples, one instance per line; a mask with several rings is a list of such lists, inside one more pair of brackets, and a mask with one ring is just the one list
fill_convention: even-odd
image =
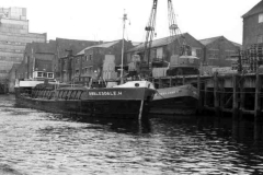
[(70, 115), (137, 116), (149, 112), (156, 90), (148, 81), (130, 81), (112, 88), (20, 81), (15, 97), (20, 105)]

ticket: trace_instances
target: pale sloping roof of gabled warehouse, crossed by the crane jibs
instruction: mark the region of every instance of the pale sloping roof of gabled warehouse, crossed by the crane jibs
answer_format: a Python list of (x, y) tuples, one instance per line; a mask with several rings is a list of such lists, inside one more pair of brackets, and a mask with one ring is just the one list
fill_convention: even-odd
[[(185, 34), (187, 34), (187, 33), (185, 33)], [(185, 34), (181, 34), (181, 35), (185, 35)], [(180, 37), (181, 35), (178, 35), (175, 38)], [(172, 36), (168, 36), (168, 37), (163, 37), (163, 38), (160, 38), (160, 39), (156, 39), (156, 40), (152, 40), (151, 48), (165, 46), (165, 45), (170, 44), (171, 42), (172, 42)], [(145, 49), (145, 43), (141, 43), (140, 45), (129, 49), (128, 52), (129, 51), (144, 50), (144, 49)]]

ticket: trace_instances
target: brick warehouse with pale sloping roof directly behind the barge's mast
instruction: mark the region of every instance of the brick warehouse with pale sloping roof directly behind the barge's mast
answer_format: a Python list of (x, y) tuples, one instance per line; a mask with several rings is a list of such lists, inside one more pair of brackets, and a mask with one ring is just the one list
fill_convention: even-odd
[[(132, 42), (124, 40), (124, 51), (132, 47)], [(91, 78), (101, 77), (105, 55), (114, 55), (116, 66), (121, 65), (122, 39), (93, 45), (76, 55), (60, 58), (61, 80), (68, 82), (75, 79), (75, 82), (88, 82)]]

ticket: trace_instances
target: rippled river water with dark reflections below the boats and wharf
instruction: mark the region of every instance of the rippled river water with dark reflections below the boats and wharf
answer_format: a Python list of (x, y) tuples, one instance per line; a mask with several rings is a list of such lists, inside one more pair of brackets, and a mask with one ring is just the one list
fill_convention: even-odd
[(0, 96), (0, 174), (263, 174), (250, 122), (211, 117), (70, 118)]

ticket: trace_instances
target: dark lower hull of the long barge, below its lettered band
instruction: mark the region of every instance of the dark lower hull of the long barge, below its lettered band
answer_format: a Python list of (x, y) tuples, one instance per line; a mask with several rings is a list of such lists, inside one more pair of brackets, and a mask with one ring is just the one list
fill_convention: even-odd
[[(31, 107), (56, 114), (76, 116), (103, 116), (103, 117), (138, 117), (140, 101), (55, 101), (16, 98), (16, 105)], [(145, 102), (144, 115), (149, 112), (149, 104)]]

